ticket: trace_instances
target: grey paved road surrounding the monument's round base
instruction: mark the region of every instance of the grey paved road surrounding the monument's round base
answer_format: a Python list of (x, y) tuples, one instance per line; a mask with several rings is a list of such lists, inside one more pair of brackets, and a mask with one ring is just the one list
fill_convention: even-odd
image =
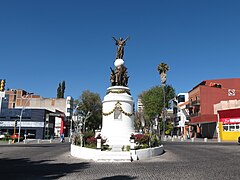
[(237, 143), (165, 142), (165, 153), (131, 163), (69, 155), (69, 143), (0, 144), (0, 179), (240, 179)]

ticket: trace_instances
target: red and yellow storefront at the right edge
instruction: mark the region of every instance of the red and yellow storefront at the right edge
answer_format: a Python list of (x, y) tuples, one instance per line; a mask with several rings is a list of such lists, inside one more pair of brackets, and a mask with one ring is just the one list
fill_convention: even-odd
[(221, 141), (237, 141), (240, 136), (240, 109), (219, 110), (219, 137)]

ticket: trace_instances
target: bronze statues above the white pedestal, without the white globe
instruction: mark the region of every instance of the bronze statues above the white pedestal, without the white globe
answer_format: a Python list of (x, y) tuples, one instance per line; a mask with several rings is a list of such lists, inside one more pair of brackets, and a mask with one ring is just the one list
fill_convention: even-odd
[[(119, 38), (117, 40), (115, 37), (113, 39), (116, 41), (117, 48), (117, 54), (116, 59), (122, 59), (123, 60), (123, 54), (124, 54), (124, 46), (126, 45), (126, 41), (129, 39), (127, 37), (125, 40), (123, 38)], [(127, 68), (122, 64), (120, 66), (115, 67), (115, 70), (111, 69), (111, 76), (110, 76), (110, 82), (112, 86), (127, 86), (128, 84), (128, 78), (127, 75)]]

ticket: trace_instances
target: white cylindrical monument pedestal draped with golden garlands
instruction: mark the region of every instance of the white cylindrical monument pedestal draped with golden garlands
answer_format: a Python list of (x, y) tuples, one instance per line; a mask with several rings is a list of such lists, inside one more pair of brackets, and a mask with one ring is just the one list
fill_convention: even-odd
[(134, 101), (130, 89), (124, 86), (112, 86), (107, 89), (103, 100), (103, 118), (101, 135), (110, 146), (130, 145), (130, 136), (134, 133)]

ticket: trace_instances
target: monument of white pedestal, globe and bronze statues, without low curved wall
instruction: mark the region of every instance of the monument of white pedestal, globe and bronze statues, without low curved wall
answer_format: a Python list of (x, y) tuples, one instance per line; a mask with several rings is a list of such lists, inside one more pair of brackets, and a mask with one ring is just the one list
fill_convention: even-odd
[(130, 145), (130, 136), (134, 133), (134, 101), (128, 88), (127, 68), (124, 65), (124, 46), (129, 39), (119, 38), (116, 41), (117, 53), (115, 68), (111, 69), (110, 87), (102, 102), (101, 135), (106, 144), (121, 151), (122, 146)]

